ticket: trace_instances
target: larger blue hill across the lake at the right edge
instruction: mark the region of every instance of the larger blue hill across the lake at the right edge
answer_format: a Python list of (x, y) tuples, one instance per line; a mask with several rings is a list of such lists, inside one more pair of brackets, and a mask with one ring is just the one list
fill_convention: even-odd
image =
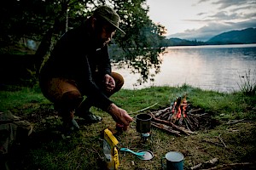
[(212, 37), (209, 43), (256, 43), (256, 28), (241, 31), (228, 31)]

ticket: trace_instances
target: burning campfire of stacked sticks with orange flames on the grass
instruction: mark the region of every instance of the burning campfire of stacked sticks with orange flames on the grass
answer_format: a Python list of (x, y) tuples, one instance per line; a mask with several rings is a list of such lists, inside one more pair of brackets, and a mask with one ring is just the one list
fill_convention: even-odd
[(160, 111), (151, 111), (151, 125), (160, 128), (167, 133), (181, 136), (181, 133), (190, 135), (200, 129), (201, 125), (209, 125), (212, 122), (209, 114), (201, 108), (191, 108), (188, 104), (187, 95), (177, 97), (170, 107)]

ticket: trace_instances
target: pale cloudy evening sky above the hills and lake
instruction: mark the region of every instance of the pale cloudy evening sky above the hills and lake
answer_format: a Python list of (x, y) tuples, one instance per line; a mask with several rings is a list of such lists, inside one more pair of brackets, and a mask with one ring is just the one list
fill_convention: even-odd
[(147, 0), (148, 16), (166, 37), (207, 41), (220, 33), (256, 27), (256, 0)]

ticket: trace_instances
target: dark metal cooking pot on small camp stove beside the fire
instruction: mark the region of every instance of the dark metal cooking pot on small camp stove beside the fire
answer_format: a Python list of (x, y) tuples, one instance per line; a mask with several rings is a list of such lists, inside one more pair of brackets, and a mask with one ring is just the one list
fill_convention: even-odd
[(136, 116), (136, 130), (138, 133), (149, 133), (152, 116), (148, 114), (138, 114)]

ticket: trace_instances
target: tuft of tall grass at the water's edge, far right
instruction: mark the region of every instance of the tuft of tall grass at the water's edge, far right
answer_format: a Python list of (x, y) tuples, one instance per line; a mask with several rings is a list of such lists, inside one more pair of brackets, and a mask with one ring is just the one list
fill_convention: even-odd
[(256, 70), (253, 72), (251, 69), (245, 71), (245, 76), (239, 76), (240, 83), (237, 83), (241, 93), (246, 95), (256, 94)]

